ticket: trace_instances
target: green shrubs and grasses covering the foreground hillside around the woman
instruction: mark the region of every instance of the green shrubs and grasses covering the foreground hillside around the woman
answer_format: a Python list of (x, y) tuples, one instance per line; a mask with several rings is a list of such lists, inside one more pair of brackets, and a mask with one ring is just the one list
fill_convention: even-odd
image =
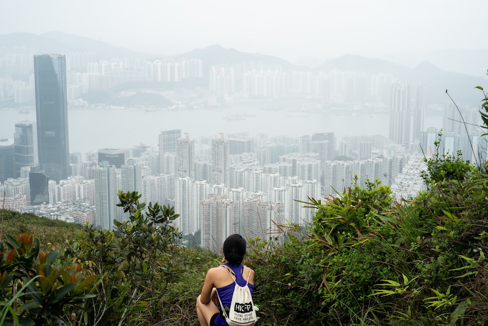
[[(487, 129), (486, 94), (481, 115)], [(487, 164), (436, 145), (414, 200), (368, 180), (304, 200), (313, 222), (281, 226), (283, 242), (248, 239), (260, 325), (488, 325)], [(221, 258), (179, 245), (174, 209), (139, 198), (119, 192), (127, 222), (85, 226), (57, 249), (4, 236), (0, 325), (198, 325), (195, 299)]]

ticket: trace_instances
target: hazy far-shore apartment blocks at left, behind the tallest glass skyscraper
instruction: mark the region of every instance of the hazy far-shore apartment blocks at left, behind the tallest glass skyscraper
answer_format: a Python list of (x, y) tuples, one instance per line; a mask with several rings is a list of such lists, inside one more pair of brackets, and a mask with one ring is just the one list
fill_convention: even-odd
[[(0, 49), (0, 71), (3, 72), (0, 73), (0, 100), (14, 98), (15, 103), (20, 104), (35, 100), (34, 56), (34, 49)], [(65, 58), (68, 102), (75, 101), (90, 89), (107, 89), (132, 82), (181, 82), (203, 77), (202, 60), (199, 59), (97, 60), (94, 52), (68, 53)], [(8, 77), (12, 75), (28, 78)]]

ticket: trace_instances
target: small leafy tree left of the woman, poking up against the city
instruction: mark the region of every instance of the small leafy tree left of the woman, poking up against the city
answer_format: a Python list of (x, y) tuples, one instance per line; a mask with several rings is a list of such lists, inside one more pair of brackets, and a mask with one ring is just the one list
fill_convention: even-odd
[(113, 231), (86, 225), (64, 255), (101, 275), (86, 325), (148, 324), (160, 313), (157, 302), (167, 284), (182, 273), (172, 262), (181, 238), (173, 226), (179, 217), (174, 208), (149, 203), (144, 212), (137, 192), (118, 194), (117, 206), (129, 214), (128, 220), (114, 220)]

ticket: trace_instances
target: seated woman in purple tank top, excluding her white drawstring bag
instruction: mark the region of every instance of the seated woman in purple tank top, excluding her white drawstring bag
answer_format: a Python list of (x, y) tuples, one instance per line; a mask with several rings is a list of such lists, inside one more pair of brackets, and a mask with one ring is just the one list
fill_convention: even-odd
[[(202, 326), (227, 325), (220, 315), (217, 304), (217, 292), (224, 307), (229, 307), (234, 292), (234, 279), (240, 286), (247, 283), (251, 294), (254, 290), (254, 271), (242, 264), (246, 242), (238, 234), (229, 236), (224, 241), (224, 259), (219, 267), (210, 268), (205, 276), (202, 293), (197, 298), (197, 315)], [(232, 277), (229, 272), (234, 276)]]

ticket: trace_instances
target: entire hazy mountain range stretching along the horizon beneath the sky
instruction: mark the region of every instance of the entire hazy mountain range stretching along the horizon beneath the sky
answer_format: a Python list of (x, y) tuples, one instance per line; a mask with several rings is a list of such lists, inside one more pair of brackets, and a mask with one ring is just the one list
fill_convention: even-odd
[[(49, 32), (42, 35), (32, 33), (0, 35), (0, 46), (24, 46), (27, 48), (35, 48), (35, 53), (93, 51), (97, 53), (97, 59), (99, 60), (108, 58), (139, 58), (150, 60), (152, 58), (163, 57), (154, 54), (135, 52), (126, 48), (112, 46), (106, 42), (95, 41), (61, 32)], [(443, 103), (447, 101), (447, 89), (451, 96), (463, 105), (479, 105), (481, 94), (479, 90), (475, 90), (474, 87), (487, 87), (488, 80), (482, 76), (484, 76), (486, 68), (488, 68), (488, 49), (473, 51), (436, 51), (430, 53), (427, 57), (431, 58), (431, 60), (419, 61), (418, 64), (413, 64), (415, 61), (419, 60), (420, 57), (415, 59), (411, 56), (410, 62), (403, 65), (383, 59), (346, 54), (329, 60), (317, 68), (312, 69), (309, 67), (293, 65), (278, 57), (259, 53), (246, 53), (233, 48), (226, 49), (221, 45), (211, 45), (206, 48), (194, 49), (174, 56), (174, 58), (201, 59), (203, 61), (203, 72), (205, 75), (213, 65), (231, 65), (240, 62), (253, 62), (253, 65), (249, 65), (247, 68), (254, 69), (267, 67), (275, 68), (276, 66), (281, 65), (284, 71), (307, 70), (328, 72), (337, 68), (345, 71), (365, 71), (369, 75), (389, 73), (398, 80), (409, 81), (412, 85), (417, 83), (426, 85), (427, 103)], [(432, 64), (436, 62), (442, 64), (442, 69), (439, 68), (440, 65)], [(486, 65), (486, 67), (482, 67), (483, 65)], [(469, 75), (478, 69), (481, 69), (482, 71), (475, 76)], [(449, 72), (446, 70), (458, 72)], [(465, 70), (466, 72), (464, 72)], [(459, 73), (459, 71), (463, 71), (464, 73)]]

